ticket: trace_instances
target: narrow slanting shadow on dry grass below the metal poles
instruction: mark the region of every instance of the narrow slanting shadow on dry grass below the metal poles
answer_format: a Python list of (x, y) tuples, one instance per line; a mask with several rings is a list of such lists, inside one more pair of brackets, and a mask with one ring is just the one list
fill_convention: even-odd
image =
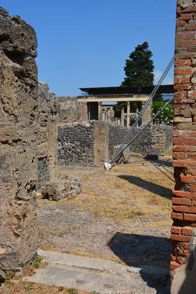
[(165, 188), (163, 186), (160, 186), (158, 184), (145, 181), (140, 177), (135, 177), (135, 176), (118, 176), (119, 178), (128, 181), (131, 184), (134, 184), (138, 187), (141, 187), (145, 190), (148, 190), (150, 192), (153, 192), (155, 194), (160, 195), (161, 197), (165, 197), (167, 199), (171, 199), (172, 197), (172, 190), (169, 188)]

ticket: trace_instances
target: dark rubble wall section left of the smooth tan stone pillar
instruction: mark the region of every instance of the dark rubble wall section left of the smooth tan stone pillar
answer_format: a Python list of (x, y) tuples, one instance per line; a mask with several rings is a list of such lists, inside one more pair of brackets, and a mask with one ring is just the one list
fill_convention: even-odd
[(58, 127), (58, 165), (93, 166), (94, 122), (67, 123)]

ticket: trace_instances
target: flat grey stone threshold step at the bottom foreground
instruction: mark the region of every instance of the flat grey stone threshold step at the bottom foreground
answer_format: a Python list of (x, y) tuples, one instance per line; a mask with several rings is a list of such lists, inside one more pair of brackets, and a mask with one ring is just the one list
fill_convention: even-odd
[[(169, 270), (144, 265), (129, 267), (111, 260), (38, 250), (46, 268), (23, 280), (96, 293), (162, 294)], [(164, 291), (163, 291), (163, 289)], [(168, 288), (169, 289), (169, 288)], [(132, 292), (131, 292), (132, 291)]]

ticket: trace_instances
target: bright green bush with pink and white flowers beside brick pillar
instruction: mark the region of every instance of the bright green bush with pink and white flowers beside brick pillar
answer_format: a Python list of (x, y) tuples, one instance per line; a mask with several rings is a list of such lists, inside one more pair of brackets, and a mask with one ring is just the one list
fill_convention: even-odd
[[(166, 104), (166, 102), (154, 101), (151, 106), (151, 117), (155, 116), (158, 111)], [(168, 104), (161, 113), (155, 118), (155, 123), (165, 123), (166, 125), (173, 124), (173, 106)]]

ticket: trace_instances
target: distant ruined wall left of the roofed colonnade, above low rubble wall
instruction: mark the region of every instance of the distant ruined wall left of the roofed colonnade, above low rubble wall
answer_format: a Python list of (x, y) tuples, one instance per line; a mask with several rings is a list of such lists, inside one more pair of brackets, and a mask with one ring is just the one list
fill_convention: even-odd
[(58, 96), (60, 107), (59, 122), (73, 123), (83, 121), (83, 104), (77, 101), (78, 96)]

